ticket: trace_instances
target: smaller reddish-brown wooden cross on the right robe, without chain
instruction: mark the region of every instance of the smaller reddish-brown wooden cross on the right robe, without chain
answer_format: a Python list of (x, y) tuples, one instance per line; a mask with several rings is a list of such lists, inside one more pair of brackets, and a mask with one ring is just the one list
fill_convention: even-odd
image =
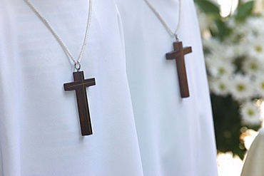
[(174, 51), (166, 53), (166, 58), (168, 60), (176, 59), (177, 71), (178, 71), (178, 80), (181, 90), (181, 98), (187, 98), (190, 96), (188, 81), (186, 75), (186, 63), (184, 61), (184, 55), (191, 53), (192, 48), (184, 47), (181, 41), (176, 41), (173, 43)]

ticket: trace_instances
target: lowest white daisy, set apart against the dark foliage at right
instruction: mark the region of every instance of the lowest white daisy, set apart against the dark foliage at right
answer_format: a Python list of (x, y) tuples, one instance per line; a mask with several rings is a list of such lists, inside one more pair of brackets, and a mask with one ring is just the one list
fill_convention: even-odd
[(240, 107), (241, 120), (244, 125), (260, 125), (260, 109), (253, 102), (243, 103)]

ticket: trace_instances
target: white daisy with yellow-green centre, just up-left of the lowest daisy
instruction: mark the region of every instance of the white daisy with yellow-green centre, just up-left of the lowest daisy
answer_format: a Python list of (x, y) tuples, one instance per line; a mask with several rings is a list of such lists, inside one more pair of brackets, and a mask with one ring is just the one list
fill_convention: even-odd
[(230, 92), (235, 100), (249, 99), (254, 95), (253, 81), (248, 76), (237, 74), (233, 77)]

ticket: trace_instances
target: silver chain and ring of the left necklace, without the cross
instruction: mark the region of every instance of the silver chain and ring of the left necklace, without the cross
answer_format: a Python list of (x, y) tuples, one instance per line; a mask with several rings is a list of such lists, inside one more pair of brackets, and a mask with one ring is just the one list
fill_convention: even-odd
[(79, 71), (81, 69), (81, 60), (83, 58), (83, 52), (84, 52), (84, 50), (86, 48), (86, 44), (87, 44), (87, 41), (88, 41), (88, 34), (89, 34), (89, 31), (90, 31), (90, 26), (91, 26), (91, 14), (92, 14), (92, 7), (93, 7), (92, 6), (93, 5), (92, 4), (92, 0), (89, 0), (89, 12), (88, 12), (88, 19), (87, 19), (87, 24), (86, 24), (86, 33), (85, 33), (85, 36), (84, 36), (83, 46), (81, 47), (80, 55), (78, 56), (78, 60), (76, 60), (72, 56), (72, 54), (70, 53), (70, 51), (68, 51), (68, 48), (65, 45), (64, 41), (62, 41), (61, 37), (58, 35), (58, 33), (56, 33), (56, 31), (49, 24), (49, 22), (39, 12), (39, 10), (37, 10), (36, 7), (33, 4), (31, 4), (31, 2), (29, 0), (24, 0), (24, 1), (26, 1), (26, 4), (28, 4), (31, 7), (31, 9), (35, 12), (35, 14), (37, 16), (39, 16), (39, 18), (41, 19), (41, 21), (48, 27), (48, 29), (54, 35), (54, 37), (56, 38), (56, 40), (60, 43), (61, 47), (67, 53), (68, 57), (71, 58), (71, 61), (73, 61), (76, 70)]

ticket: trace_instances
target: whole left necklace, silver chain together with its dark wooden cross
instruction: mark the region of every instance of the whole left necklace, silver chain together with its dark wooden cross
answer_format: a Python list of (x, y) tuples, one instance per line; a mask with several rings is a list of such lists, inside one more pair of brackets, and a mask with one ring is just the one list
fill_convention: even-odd
[(89, 12), (88, 12), (88, 19), (87, 19), (87, 25), (86, 25), (86, 33), (83, 41), (83, 46), (81, 48), (81, 53), (78, 56), (78, 60), (73, 58), (71, 53), (68, 51), (68, 48), (66, 47), (64, 41), (61, 40), (59, 35), (54, 31), (54, 29), (51, 27), (48, 21), (44, 18), (44, 16), (41, 15), (41, 13), (36, 9), (35, 6), (31, 4), (29, 0), (26, 1), (26, 4), (28, 4), (31, 9), (36, 13), (37, 16), (41, 19), (41, 21), (44, 22), (44, 24), (48, 27), (48, 29), (51, 31), (51, 33), (55, 36), (56, 40), (59, 41), (64, 51), (67, 53), (68, 57), (71, 58), (71, 60), (74, 62), (74, 66), (76, 68), (76, 72), (73, 72), (73, 78), (74, 81), (71, 83), (64, 83), (64, 90), (75, 90), (76, 91), (76, 99), (77, 99), (77, 105), (78, 105), (78, 114), (80, 118), (80, 125), (81, 125), (81, 135), (92, 135), (92, 126), (91, 126), (91, 118), (90, 118), (90, 112), (88, 108), (88, 98), (86, 93), (86, 88), (89, 86), (95, 86), (96, 80), (95, 78), (84, 78), (83, 71), (80, 71), (81, 69), (81, 59), (83, 58), (83, 52), (86, 48), (86, 43), (88, 40), (88, 33), (91, 25), (91, 12), (92, 12), (92, 0), (89, 0)]

